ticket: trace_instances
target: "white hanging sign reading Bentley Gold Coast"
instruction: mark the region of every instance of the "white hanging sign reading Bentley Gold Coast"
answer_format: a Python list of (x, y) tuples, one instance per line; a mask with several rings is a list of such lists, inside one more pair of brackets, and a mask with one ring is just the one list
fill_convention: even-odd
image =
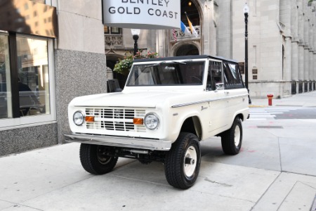
[(180, 27), (180, 0), (103, 0), (103, 24), (147, 30)]

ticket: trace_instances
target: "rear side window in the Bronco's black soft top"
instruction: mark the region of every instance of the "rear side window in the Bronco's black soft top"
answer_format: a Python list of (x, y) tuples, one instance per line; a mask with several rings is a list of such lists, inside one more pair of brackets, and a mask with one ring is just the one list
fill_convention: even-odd
[(225, 89), (243, 88), (242, 77), (237, 63), (224, 62)]

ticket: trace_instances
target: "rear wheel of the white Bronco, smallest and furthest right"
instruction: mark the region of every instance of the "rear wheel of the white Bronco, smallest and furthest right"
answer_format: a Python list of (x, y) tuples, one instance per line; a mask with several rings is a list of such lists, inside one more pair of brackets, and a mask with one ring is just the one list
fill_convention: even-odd
[(232, 127), (221, 134), (222, 148), (225, 154), (237, 155), (242, 148), (242, 120), (236, 117)]

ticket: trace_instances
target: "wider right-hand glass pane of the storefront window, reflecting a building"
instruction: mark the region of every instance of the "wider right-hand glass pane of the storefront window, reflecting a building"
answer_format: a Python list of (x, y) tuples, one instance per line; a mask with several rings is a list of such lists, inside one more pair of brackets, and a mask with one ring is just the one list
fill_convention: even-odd
[(46, 39), (17, 37), (20, 116), (50, 113)]

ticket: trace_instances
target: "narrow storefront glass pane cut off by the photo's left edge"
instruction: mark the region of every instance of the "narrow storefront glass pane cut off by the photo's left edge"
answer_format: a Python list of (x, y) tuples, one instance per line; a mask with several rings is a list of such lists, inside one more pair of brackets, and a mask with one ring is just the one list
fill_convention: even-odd
[(0, 119), (12, 117), (8, 35), (0, 34)]

